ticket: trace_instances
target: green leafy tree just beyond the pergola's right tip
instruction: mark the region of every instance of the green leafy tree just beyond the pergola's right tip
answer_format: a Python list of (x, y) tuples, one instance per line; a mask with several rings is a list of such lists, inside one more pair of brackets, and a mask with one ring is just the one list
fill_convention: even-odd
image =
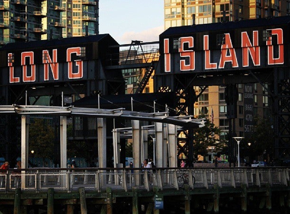
[[(200, 116), (200, 118), (204, 118), (204, 116)], [(215, 151), (221, 151), (225, 147), (226, 141), (217, 138), (220, 133), (221, 130), (208, 119), (205, 119), (203, 127), (195, 129), (193, 134), (193, 148), (196, 159), (197, 155), (207, 156), (209, 153), (208, 148), (210, 147), (214, 147)]]

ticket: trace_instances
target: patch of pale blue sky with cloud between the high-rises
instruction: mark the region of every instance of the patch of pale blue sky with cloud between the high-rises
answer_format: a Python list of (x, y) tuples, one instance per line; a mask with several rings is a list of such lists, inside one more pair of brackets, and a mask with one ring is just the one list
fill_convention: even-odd
[(99, 33), (120, 45), (159, 41), (164, 31), (164, 0), (100, 0)]

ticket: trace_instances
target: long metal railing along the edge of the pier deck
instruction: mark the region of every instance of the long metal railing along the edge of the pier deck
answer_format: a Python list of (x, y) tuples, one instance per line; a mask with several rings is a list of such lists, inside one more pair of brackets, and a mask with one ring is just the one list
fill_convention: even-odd
[(0, 192), (17, 188), (46, 191), (49, 188), (71, 191), (84, 187), (88, 190), (111, 189), (129, 191), (133, 187), (150, 191), (154, 186), (166, 188), (247, 187), (269, 184), (287, 186), (289, 169), (260, 168), (28, 168), (0, 170)]

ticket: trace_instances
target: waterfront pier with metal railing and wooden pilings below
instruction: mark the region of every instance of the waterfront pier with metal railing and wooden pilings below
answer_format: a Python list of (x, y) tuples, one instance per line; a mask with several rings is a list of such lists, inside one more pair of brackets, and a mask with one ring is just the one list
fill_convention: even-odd
[(28, 168), (2, 171), (0, 182), (0, 213), (194, 213), (200, 206), (219, 213), (225, 205), (238, 205), (240, 211), (290, 207), (285, 167)]

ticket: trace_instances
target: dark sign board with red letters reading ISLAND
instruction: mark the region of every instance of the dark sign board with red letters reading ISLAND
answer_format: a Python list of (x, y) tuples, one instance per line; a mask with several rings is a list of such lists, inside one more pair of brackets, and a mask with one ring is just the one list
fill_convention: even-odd
[[(287, 66), (289, 18), (169, 28), (160, 35), (164, 73)], [(249, 23), (249, 26), (247, 26)], [(240, 26), (239, 26), (240, 25)]]

